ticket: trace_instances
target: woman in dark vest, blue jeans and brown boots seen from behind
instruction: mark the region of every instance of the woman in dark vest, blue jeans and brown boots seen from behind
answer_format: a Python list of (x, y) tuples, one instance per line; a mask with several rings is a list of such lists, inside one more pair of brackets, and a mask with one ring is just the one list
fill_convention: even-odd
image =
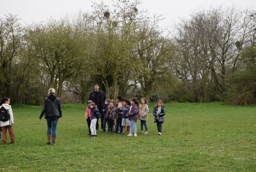
[(44, 108), (42, 109), (39, 119), (41, 120), (43, 116), (46, 118), (47, 144), (55, 145), (57, 122), (59, 118), (62, 118), (62, 109), (60, 107), (60, 98), (55, 96), (55, 89), (49, 89), (48, 95), (49, 96), (44, 99)]

